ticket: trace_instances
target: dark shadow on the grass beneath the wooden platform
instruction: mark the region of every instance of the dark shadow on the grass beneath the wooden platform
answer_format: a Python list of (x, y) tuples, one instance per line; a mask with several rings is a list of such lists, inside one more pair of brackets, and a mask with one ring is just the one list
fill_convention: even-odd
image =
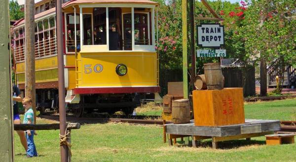
[[(192, 146), (192, 141), (189, 141), (189, 144), (184, 144), (181, 141), (177, 141), (178, 145), (177, 147), (184, 147), (184, 146)], [(252, 146), (252, 145), (265, 145), (265, 141), (262, 140), (229, 140), (229, 141), (222, 141), (218, 142), (218, 149), (234, 149), (234, 148), (240, 148), (244, 146)], [(209, 148), (213, 147), (212, 140), (201, 140), (197, 144), (198, 148)]]

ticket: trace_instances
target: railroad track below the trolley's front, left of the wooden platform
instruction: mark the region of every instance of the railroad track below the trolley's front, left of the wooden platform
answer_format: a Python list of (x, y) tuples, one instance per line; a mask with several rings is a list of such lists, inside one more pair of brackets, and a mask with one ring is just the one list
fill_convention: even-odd
[[(58, 115), (39, 115), (40, 118), (49, 119), (59, 121)], [(119, 118), (121, 117), (121, 118)], [(148, 118), (149, 120), (145, 119)], [(94, 124), (94, 123), (130, 123), (130, 124), (141, 124), (141, 125), (163, 125), (162, 120), (153, 120), (153, 119), (161, 119), (161, 116), (144, 116), (144, 115), (135, 115), (135, 116), (127, 116), (127, 115), (115, 115), (112, 118), (76, 118), (76, 117), (67, 117), (67, 122), (78, 122), (78, 123), (86, 123), (86, 124)], [(169, 123), (169, 122), (167, 122)]]

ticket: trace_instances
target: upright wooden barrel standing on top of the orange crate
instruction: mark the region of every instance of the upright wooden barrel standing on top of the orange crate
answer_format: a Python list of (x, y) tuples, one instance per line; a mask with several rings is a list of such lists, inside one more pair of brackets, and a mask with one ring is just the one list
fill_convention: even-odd
[(220, 63), (204, 64), (205, 78), (208, 89), (223, 89), (223, 75)]

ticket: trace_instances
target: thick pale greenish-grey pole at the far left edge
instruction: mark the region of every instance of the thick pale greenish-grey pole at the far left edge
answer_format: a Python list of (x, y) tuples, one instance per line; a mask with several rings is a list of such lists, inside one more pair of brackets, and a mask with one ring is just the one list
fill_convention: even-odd
[(0, 159), (13, 162), (8, 0), (0, 0)]

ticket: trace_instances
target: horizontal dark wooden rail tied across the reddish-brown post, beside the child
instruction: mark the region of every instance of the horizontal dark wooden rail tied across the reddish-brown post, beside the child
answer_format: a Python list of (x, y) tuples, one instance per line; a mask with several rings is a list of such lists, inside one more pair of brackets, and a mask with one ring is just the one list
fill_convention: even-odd
[[(79, 129), (80, 123), (68, 123), (67, 129)], [(14, 124), (15, 131), (26, 131), (26, 130), (58, 130), (60, 129), (60, 123), (54, 124)]]

